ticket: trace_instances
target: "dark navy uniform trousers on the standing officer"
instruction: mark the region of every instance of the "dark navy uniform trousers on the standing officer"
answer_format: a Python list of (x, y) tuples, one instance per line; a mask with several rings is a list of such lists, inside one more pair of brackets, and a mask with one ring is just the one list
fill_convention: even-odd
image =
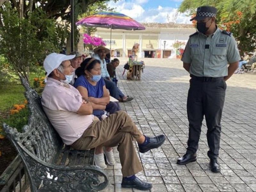
[(187, 113), (189, 135), (187, 153), (194, 154), (198, 149), (202, 121), (205, 116), (207, 141), (210, 158), (219, 156), (221, 115), (225, 100), (226, 82), (223, 77), (191, 76), (188, 90)]

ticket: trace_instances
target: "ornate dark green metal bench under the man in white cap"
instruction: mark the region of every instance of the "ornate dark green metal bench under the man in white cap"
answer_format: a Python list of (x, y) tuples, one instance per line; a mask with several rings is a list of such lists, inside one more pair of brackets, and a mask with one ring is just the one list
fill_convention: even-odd
[(66, 146), (41, 106), (37, 92), (21, 78), (30, 116), (23, 132), (4, 124), (7, 138), (24, 164), (32, 192), (87, 192), (108, 185), (106, 173), (93, 165), (94, 149)]

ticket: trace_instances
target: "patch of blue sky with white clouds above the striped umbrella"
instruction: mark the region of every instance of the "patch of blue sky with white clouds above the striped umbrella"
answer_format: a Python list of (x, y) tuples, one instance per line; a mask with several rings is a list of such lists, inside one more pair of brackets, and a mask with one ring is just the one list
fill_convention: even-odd
[(191, 24), (187, 13), (177, 13), (183, 0), (119, 0), (110, 1), (108, 6), (139, 22)]

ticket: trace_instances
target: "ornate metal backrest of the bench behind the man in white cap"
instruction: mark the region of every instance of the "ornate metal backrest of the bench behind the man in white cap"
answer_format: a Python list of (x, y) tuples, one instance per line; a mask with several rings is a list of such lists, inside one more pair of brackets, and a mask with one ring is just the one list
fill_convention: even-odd
[(20, 77), (20, 79), (26, 89), (25, 96), (28, 100), (30, 113), (28, 125), (25, 125), (22, 128), (23, 132), (19, 133), (15, 128), (4, 124), (4, 131), (25, 162), (28, 160), (26, 158), (30, 156), (39, 162), (50, 163), (63, 147), (63, 142), (45, 115), (38, 93), (29, 86), (24, 78)]

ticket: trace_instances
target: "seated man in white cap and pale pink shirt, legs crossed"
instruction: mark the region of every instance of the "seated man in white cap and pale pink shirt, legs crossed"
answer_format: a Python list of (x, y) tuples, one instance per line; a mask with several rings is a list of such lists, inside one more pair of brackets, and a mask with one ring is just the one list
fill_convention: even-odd
[(160, 147), (165, 136), (142, 135), (124, 111), (117, 111), (102, 121), (94, 120), (92, 104), (84, 100), (75, 87), (64, 82), (65, 76), (73, 71), (69, 60), (74, 57), (51, 53), (44, 60), (48, 81), (42, 93), (42, 106), (47, 117), (63, 142), (77, 150), (118, 146), (123, 174), (122, 187), (150, 190), (151, 183), (135, 176), (142, 171), (142, 165), (133, 140), (137, 141), (140, 153), (146, 153)]

